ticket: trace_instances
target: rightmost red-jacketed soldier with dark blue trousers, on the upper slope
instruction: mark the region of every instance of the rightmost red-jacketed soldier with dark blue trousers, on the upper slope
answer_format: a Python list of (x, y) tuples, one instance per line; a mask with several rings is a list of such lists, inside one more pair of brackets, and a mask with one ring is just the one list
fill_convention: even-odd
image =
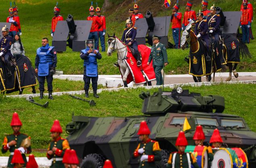
[(243, 4), (244, 8), (240, 11), (242, 12), (242, 16), (240, 19), (240, 27), (242, 29), (242, 41), (243, 43), (250, 43), (250, 27), (252, 25), (252, 14), (250, 9), (248, 8), (248, 3)]

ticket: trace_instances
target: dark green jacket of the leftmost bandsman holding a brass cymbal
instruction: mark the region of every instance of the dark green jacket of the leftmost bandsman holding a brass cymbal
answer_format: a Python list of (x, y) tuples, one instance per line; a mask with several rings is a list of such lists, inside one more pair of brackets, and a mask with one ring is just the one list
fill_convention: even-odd
[[(21, 142), (23, 139), (27, 138), (28, 136), (23, 134), (23, 133), (17, 133), (17, 134), (10, 134), (7, 135), (6, 137), (4, 137), (4, 142), (3, 142), (3, 146), (2, 146), (2, 153), (6, 153), (8, 150), (10, 151), (10, 156), (9, 156), (9, 160), (8, 160), (8, 168), (13, 168), (13, 164), (11, 164), (10, 162), (12, 161), (12, 157), (13, 157), (13, 152), (15, 149), (18, 149), (19, 147), (21, 147)], [(7, 143), (9, 143), (10, 141), (15, 140), (17, 142), (16, 145), (10, 146), (10, 148), (7, 147)], [(27, 148), (26, 152), (27, 154), (29, 154), (31, 152), (31, 147)], [(25, 162), (24, 166), (26, 166), (27, 164), (27, 159), (25, 154), (22, 154), (22, 158)]]

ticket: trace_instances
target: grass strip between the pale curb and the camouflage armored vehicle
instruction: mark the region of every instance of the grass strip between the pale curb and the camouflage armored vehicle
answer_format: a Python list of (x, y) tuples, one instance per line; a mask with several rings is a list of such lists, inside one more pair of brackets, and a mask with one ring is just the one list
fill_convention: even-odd
[[(183, 89), (189, 89), (190, 92), (199, 92), (202, 95), (221, 95), (225, 97), (225, 112), (244, 117), (252, 131), (256, 131), (256, 117), (254, 112), (255, 100), (252, 97), (256, 94), (254, 84), (219, 84), (213, 86), (191, 87), (186, 86)], [(50, 127), (54, 119), (60, 120), (62, 129), (71, 121), (72, 113), (75, 115), (85, 115), (94, 117), (106, 116), (130, 116), (141, 115), (142, 99), (139, 93), (143, 88), (121, 90), (119, 92), (102, 92), (100, 98), (96, 99), (95, 107), (90, 107), (89, 103), (76, 100), (68, 95), (54, 96), (50, 100), (49, 107), (44, 109), (35, 104), (27, 102), (25, 98), (7, 98), (0, 96), (0, 137), (12, 133), (10, 120), (13, 112), (17, 112), (23, 122), (21, 131), (31, 136), (32, 148), (47, 148), (50, 141)], [(152, 94), (157, 89), (148, 90)], [(171, 89), (169, 89), (171, 90)], [(145, 90), (144, 90), (145, 91)], [(84, 98), (82, 95), (80, 97)], [(36, 102), (44, 104), (47, 98)], [(64, 131), (65, 132), (65, 131)], [(63, 133), (63, 137), (67, 134)]]

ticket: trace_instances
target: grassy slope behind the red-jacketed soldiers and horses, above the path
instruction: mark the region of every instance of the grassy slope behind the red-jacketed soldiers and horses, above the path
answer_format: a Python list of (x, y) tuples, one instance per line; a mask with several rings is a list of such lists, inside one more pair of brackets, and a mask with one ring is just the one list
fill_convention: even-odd
[[(227, 0), (227, 1), (216, 1), (215, 5), (221, 6), (224, 11), (239, 10), (241, 0)], [(97, 1), (99, 6), (102, 6), (103, 0)], [(133, 6), (133, 1), (129, 5), (119, 5), (120, 1), (111, 1), (116, 2), (109, 9), (106, 9), (106, 27), (107, 33), (113, 35), (115, 33), (117, 37), (121, 38), (123, 34), (123, 28), (125, 25), (125, 19), (127, 18), (127, 11)], [(125, 1), (129, 3), (128, 1)], [(140, 0), (138, 1), (139, 5), (148, 4), (145, 9), (152, 10), (154, 16), (166, 16), (171, 14), (171, 8), (167, 10), (161, 6), (162, 4), (153, 3), (149, 0)], [(255, 2), (254, 2), (255, 3)], [(26, 55), (31, 59), (34, 64), (36, 49), (41, 46), (41, 39), (43, 37), (48, 37), (51, 44), (51, 18), (53, 17), (53, 8), (55, 6), (55, 1), (42, 0), (38, 2), (37, 0), (23, 0), (18, 1), (17, 5), (19, 7), (19, 16), (21, 20), (21, 29), (23, 35), (21, 35), (23, 45), (26, 51)], [(197, 3), (198, 4), (198, 3)], [(5, 22), (6, 17), (8, 16), (9, 2), (0, 0), (0, 21)], [(61, 8), (60, 14), (66, 18), (68, 14), (72, 14), (75, 20), (86, 20), (89, 15), (88, 9), (90, 6), (90, 1), (82, 0), (66, 0), (59, 2)], [(256, 6), (254, 4), (254, 6)], [(143, 7), (142, 7), (143, 8)], [(200, 9), (200, 5), (193, 6), (195, 11)], [(141, 11), (145, 13), (145, 11)], [(184, 8), (181, 6), (181, 12), (184, 12)], [(103, 15), (104, 12), (102, 12)], [(170, 25), (171, 27), (171, 25)], [(252, 27), (256, 27), (255, 22), (252, 23)], [(255, 30), (252, 29), (255, 35)], [(106, 36), (107, 38), (107, 36)], [(171, 29), (169, 30), (169, 41), (173, 43), (173, 38), (171, 34)], [(241, 61), (241, 64), (238, 66), (238, 71), (252, 72), (256, 70), (256, 44), (255, 40), (252, 40), (248, 45), (250, 52), (254, 56), (252, 59), (246, 59)], [(189, 50), (175, 50), (168, 49), (168, 59), (170, 64), (165, 68), (167, 74), (187, 74), (188, 64), (183, 60), (185, 56), (188, 55)], [(57, 70), (62, 70), (64, 74), (82, 74), (83, 73), (83, 60), (80, 59), (78, 52), (72, 52), (69, 47), (67, 51), (62, 54), (58, 54), (58, 64)], [(117, 59), (117, 54), (114, 53), (112, 56), (108, 57), (106, 52), (102, 53), (102, 59), (98, 61), (99, 64), (99, 74), (119, 74), (118, 68), (112, 66), (112, 64)]]

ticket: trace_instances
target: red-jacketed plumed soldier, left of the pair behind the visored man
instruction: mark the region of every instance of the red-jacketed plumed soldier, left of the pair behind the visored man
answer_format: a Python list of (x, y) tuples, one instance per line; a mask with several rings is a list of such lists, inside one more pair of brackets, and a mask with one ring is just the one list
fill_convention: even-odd
[(90, 16), (87, 17), (87, 20), (92, 20), (92, 27), (91, 27), (88, 39), (94, 40), (95, 49), (99, 50), (98, 30), (99, 30), (99, 27), (102, 26), (102, 22), (100, 22), (100, 19), (98, 16), (94, 15), (94, 7), (92, 6), (92, 4), (89, 8), (89, 12), (90, 12)]

